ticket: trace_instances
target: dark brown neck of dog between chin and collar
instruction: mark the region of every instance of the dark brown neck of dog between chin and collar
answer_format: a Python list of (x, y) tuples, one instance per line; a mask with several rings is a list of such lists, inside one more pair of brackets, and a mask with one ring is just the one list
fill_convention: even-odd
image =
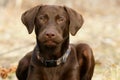
[(69, 37), (67, 39), (65, 39), (65, 41), (63, 43), (60, 43), (55, 47), (46, 47), (46, 46), (42, 45), (42, 43), (40, 43), (38, 40), (37, 40), (37, 44), (38, 44), (37, 46), (39, 48), (40, 56), (42, 56), (48, 60), (49, 59), (56, 60), (56, 59), (60, 58), (61, 56), (63, 56), (63, 54), (68, 49)]

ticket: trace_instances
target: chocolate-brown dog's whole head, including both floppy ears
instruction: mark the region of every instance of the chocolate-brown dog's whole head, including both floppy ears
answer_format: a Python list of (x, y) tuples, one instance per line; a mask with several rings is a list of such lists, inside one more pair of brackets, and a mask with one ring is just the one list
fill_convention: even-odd
[(56, 46), (69, 37), (69, 32), (72, 35), (77, 33), (83, 24), (83, 18), (68, 7), (40, 5), (23, 13), (22, 22), (29, 34), (35, 26), (35, 33), (40, 43)]

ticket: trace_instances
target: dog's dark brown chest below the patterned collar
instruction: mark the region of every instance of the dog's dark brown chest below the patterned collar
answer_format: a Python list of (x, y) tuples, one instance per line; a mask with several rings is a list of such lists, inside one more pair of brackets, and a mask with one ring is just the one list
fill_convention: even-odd
[(78, 61), (72, 55), (65, 64), (56, 67), (34, 66), (29, 77), (30, 80), (79, 80), (79, 69)]

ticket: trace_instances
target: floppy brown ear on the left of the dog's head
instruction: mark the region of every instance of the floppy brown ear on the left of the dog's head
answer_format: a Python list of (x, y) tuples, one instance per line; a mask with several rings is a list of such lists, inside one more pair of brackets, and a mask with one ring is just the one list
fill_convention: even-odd
[(35, 18), (40, 7), (41, 6), (36, 6), (34, 8), (27, 10), (22, 14), (21, 20), (23, 24), (27, 27), (29, 34), (31, 34), (34, 29)]

